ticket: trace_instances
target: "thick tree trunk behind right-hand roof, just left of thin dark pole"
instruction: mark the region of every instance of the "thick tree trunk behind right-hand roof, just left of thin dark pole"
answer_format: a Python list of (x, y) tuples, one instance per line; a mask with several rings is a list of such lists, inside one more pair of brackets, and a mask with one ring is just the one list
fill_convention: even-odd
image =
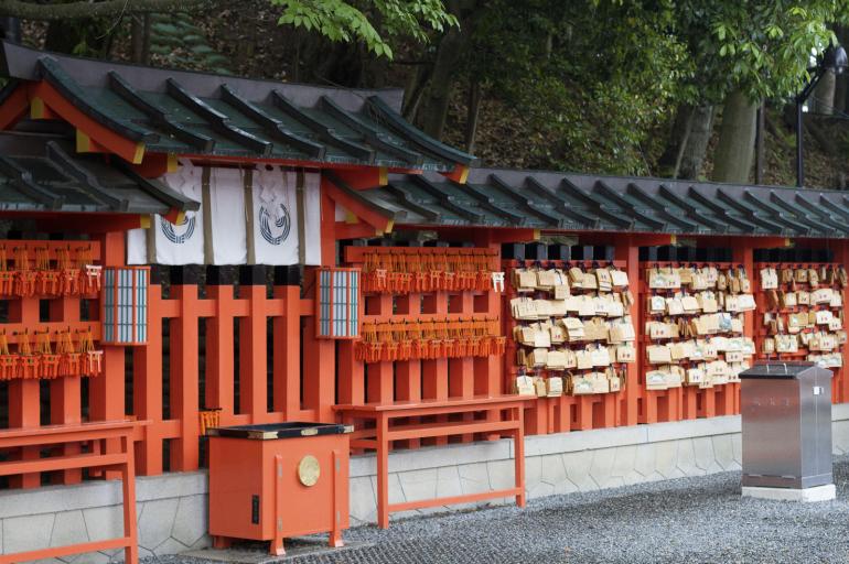
[(752, 171), (757, 105), (740, 90), (729, 93), (713, 158), (713, 180), (745, 184)]

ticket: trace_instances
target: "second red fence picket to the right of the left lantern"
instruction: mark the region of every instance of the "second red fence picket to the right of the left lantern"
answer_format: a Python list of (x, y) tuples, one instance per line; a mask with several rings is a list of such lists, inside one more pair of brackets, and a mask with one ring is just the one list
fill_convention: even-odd
[(171, 295), (180, 316), (171, 328), (171, 416), (180, 421), (180, 436), (171, 441), (171, 470), (191, 471), (198, 462), (197, 278), (187, 267), (171, 269)]

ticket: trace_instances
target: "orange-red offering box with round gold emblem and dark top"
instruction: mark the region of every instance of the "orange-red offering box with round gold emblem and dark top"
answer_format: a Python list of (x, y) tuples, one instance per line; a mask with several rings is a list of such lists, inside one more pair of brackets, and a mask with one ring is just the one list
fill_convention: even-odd
[(352, 427), (277, 423), (208, 430), (209, 534), (217, 547), (233, 539), (271, 541), (330, 533), (342, 546), (348, 528), (348, 436)]

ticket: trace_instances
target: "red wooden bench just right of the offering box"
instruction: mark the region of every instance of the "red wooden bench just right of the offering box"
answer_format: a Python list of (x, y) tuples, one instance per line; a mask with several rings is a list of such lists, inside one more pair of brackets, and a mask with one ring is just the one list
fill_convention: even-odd
[[(531, 398), (533, 399), (533, 398)], [(474, 397), (452, 400), (419, 400), (391, 404), (366, 403), (363, 405), (336, 405), (343, 423), (372, 420), (374, 429), (357, 429), (352, 434), (351, 447), (377, 452), (377, 524), (389, 527), (389, 513), (423, 507), (466, 503), (484, 499), (515, 497), (518, 507), (525, 507), (525, 429), (523, 408), (528, 398), (519, 395)], [(473, 419), (475, 412), (488, 416)], [(462, 414), (462, 421), (445, 421), (447, 416)], [(432, 423), (421, 417), (439, 416)], [(395, 420), (416, 417), (416, 423), (397, 424)], [(396, 424), (394, 424), (396, 423)], [(513, 488), (461, 496), (442, 497), (389, 503), (389, 448), (393, 441), (427, 438), (483, 433), (509, 435), (515, 442), (515, 486)]]

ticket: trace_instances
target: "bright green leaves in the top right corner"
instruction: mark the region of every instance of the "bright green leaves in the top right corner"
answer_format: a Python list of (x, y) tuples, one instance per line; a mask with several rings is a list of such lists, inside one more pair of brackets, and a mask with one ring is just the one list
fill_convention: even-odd
[[(597, 0), (603, 3), (604, 0)], [(623, 4), (624, 0), (608, 0)], [(807, 68), (835, 43), (847, 0), (632, 0), (665, 12), (697, 72), (681, 85), (690, 101), (719, 102), (732, 89), (753, 101), (798, 91)]]

